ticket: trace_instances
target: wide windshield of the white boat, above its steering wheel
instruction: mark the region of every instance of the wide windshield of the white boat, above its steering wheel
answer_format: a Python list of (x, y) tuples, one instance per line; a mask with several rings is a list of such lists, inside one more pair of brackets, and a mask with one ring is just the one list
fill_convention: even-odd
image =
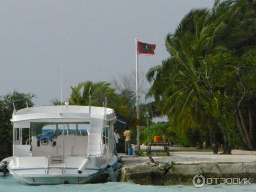
[(87, 136), (90, 122), (32, 122), (32, 136), (49, 137), (49, 140), (59, 135)]

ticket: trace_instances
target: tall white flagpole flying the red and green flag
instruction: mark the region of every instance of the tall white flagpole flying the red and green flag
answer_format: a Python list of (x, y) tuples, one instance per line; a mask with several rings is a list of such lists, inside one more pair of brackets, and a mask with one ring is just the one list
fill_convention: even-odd
[(135, 50), (136, 50), (136, 109), (137, 109), (137, 145), (140, 146), (140, 115), (139, 115), (139, 90), (138, 90), (138, 42), (135, 38)]

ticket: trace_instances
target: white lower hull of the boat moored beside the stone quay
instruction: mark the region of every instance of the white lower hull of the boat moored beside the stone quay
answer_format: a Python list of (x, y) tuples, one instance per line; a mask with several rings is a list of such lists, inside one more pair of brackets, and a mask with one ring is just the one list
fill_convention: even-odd
[[(24, 157), (25, 158), (25, 157)], [(108, 177), (108, 172), (106, 171), (108, 164), (103, 164), (100, 167), (87, 167), (81, 174), (78, 173), (79, 167), (67, 167), (67, 166), (51, 166), (47, 169), (47, 166), (35, 167), (36, 160), (41, 160), (42, 157), (15, 157), (16, 163), (22, 165), (24, 162), (29, 162), (30, 166), (14, 166), (13, 161), (9, 163), (9, 172), (10, 174), (18, 181), (27, 184), (81, 184), (81, 183), (100, 183), (104, 182)], [(69, 162), (67, 157), (67, 163)], [(102, 159), (101, 157), (91, 158), (91, 163), (96, 163)], [(72, 157), (73, 163), (80, 165), (80, 157)], [(41, 160), (41, 163), (43, 164)], [(78, 163), (77, 163), (78, 162)], [(113, 159), (109, 162), (109, 165), (113, 168), (116, 168), (117, 157), (113, 156)], [(26, 163), (28, 164), (28, 163)], [(69, 163), (70, 164), (70, 163)]]

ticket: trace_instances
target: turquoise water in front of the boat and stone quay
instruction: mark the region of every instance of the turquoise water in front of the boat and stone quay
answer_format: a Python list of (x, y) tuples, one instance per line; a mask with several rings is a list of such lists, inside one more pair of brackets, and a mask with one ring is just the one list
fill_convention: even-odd
[(30, 186), (17, 182), (12, 176), (0, 175), (0, 192), (241, 192), (256, 191), (251, 185), (206, 185), (196, 188), (192, 185), (141, 186), (133, 183), (108, 182), (99, 184), (40, 185)]

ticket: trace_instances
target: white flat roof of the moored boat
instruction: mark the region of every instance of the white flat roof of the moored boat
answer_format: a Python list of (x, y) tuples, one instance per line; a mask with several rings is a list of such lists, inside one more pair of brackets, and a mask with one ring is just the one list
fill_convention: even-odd
[[(106, 110), (106, 112), (105, 112)], [(91, 118), (115, 119), (114, 111), (111, 108), (91, 107), (80, 105), (55, 105), (23, 108), (12, 115), (11, 122), (15, 127), (30, 127), (30, 122), (88, 122)]]

